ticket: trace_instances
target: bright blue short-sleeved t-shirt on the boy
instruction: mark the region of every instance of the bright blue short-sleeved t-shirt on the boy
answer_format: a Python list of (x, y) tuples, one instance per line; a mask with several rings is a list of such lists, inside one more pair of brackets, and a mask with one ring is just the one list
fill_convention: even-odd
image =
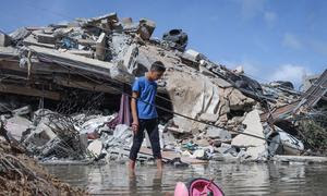
[[(137, 114), (138, 119), (156, 119), (158, 118), (156, 107), (154, 107), (157, 94), (157, 83), (148, 81), (145, 76), (138, 77), (133, 84), (133, 91), (138, 93)], [(148, 105), (149, 102), (152, 105)]]

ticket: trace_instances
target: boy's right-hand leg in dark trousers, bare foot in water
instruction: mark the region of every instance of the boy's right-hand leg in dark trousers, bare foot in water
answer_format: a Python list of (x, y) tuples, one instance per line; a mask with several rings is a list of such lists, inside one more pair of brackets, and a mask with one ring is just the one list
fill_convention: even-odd
[(145, 124), (145, 128), (149, 136), (149, 140), (153, 148), (154, 158), (156, 159), (158, 170), (162, 169), (162, 160), (161, 160), (161, 149), (160, 149), (160, 139), (159, 139), (159, 131), (158, 131), (158, 120), (153, 119), (147, 121)]

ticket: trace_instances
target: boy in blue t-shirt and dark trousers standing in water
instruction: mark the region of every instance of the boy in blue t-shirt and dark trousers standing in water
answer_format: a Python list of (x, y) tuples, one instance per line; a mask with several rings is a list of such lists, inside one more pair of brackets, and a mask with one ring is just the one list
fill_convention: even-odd
[[(166, 68), (162, 62), (156, 61), (152, 64), (149, 72), (145, 76), (138, 77), (132, 88), (131, 109), (134, 132), (133, 146), (130, 152), (130, 170), (134, 172), (137, 154), (140, 151), (144, 130), (147, 131), (153, 148), (154, 158), (156, 159), (158, 170), (162, 170), (160, 142), (158, 133), (158, 113), (155, 107), (157, 95), (157, 83)], [(136, 100), (138, 99), (138, 100)]]

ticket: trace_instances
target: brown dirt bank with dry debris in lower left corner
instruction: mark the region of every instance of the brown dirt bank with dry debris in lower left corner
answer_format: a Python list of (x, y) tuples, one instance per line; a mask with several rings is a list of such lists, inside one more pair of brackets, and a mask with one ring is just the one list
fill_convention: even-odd
[(19, 147), (0, 140), (0, 196), (88, 195), (60, 182)]

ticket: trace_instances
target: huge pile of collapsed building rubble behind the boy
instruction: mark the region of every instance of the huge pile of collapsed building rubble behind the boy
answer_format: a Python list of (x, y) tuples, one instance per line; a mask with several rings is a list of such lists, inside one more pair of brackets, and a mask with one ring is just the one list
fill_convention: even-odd
[[(155, 28), (150, 20), (110, 13), (1, 34), (0, 112), (10, 137), (44, 161), (125, 159), (132, 132), (124, 96), (161, 61), (157, 105), (167, 162), (322, 155), (325, 147), (312, 148), (301, 122), (326, 117), (327, 71), (305, 91), (290, 82), (259, 84), (241, 66), (229, 70), (189, 49), (182, 29), (159, 39)], [(326, 136), (326, 124), (319, 127)], [(146, 147), (141, 160), (150, 158)]]

